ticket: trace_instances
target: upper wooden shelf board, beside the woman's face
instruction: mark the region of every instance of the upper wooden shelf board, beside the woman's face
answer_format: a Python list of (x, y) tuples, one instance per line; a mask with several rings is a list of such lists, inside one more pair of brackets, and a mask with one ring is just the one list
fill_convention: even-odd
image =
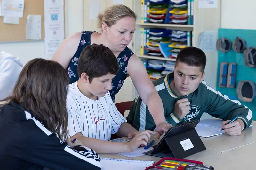
[(160, 27), (160, 28), (171, 28), (171, 29), (181, 29), (181, 30), (188, 30), (192, 31), (194, 25), (182, 25), (182, 24), (156, 24), (156, 23), (136, 23), (136, 25), (140, 25), (143, 27)]

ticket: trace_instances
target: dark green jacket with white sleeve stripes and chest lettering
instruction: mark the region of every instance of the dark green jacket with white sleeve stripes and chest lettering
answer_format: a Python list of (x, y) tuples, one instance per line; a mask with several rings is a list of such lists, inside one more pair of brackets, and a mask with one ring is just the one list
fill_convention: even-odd
[[(164, 106), (164, 116), (168, 123), (173, 126), (184, 121), (200, 119), (204, 112), (213, 117), (223, 120), (232, 120), (236, 116), (245, 123), (245, 128), (252, 123), (252, 111), (239, 101), (230, 100), (228, 96), (222, 95), (219, 91), (212, 89), (205, 81), (199, 84), (196, 91), (187, 96), (178, 97), (171, 89), (170, 83), (174, 78), (173, 73), (153, 82)], [(174, 104), (181, 98), (188, 98), (190, 102), (190, 113), (180, 119), (174, 112)], [(137, 96), (126, 117), (127, 122), (138, 131), (155, 130), (156, 124), (148, 111), (148, 106)]]

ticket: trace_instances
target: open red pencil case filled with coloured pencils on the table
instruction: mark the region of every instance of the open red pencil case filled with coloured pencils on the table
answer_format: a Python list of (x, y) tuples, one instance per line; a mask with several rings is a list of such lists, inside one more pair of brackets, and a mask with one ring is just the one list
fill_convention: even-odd
[[(168, 162), (168, 163), (166, 163), (166, 162)], [(185, 166), (192, 164), (192, 163), (203, 165), (203, 162), (196, 161), (196, 160), (165, 157), (165, 158), (160, 159), (158, 162), (154, 163), (152, 166), (147, 167), (145, 170), (158, 170), (158, 169), (183, 170), (185, 168)]]

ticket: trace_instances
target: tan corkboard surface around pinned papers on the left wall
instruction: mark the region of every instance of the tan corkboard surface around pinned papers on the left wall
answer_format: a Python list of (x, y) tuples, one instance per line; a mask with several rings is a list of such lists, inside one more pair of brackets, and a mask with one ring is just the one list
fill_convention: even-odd
[[(1, 30), (0, 42), (35, 41), (35, 40), (26, 39), (26, 18), (28, 15), (42, 16), (42, 39), (41, 40), (43, 40), (44, 39), (44, 0), (25, 0), (23, 18), (20, 18), (20, 22), (18, 25), (4, 24), (3, 22), (4, 17), (2, 16), (0, 17), (0, 30)], [(64, 4), (64, 15), (65, 15), (65, 4)], [(65, 25), (65, 21), (64, 21), (64, 25)]]

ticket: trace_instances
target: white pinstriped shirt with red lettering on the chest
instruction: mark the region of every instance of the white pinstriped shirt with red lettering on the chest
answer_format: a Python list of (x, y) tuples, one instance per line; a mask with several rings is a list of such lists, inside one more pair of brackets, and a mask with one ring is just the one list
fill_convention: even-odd
[(80, 92), (77, 82), (69, 85), (66, 103), (70, 137), (81, 132), (86, 137), (110, 140), (111, 134), (118, 132), (121, 124), (127, 121), (117, 110), (109, 92), (92, 100)]

